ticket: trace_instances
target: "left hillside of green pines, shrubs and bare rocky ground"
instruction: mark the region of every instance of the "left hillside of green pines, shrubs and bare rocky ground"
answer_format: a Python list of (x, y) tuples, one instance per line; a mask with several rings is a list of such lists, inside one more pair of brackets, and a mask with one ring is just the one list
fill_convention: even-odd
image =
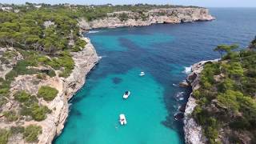
[[(72, 54), (86, 46), (80, 18), (91, 21), (122, 10), (146, 18), (147, 10), (172, 7), (182, 6), (0, 4), (0, 143), (38, 142), (49, 135), (47, 126), (57, 124), (52, 121), (61, 110), (52, 102), (74, 70)], [(54, 118), (44, 123), (49, 116)]]

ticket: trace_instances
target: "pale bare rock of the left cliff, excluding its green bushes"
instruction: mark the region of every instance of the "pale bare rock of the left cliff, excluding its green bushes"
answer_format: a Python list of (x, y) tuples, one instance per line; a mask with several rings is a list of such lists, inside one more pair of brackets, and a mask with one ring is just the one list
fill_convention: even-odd
[[(2, 106), (3, 110), (16, 110), (18, 109), (19, 103), (14, 101), (13, 95), (20, 90), (26, 90), (31, 95), (36, 95), (38, 89), (41, 86), (51, 86), (58, 90), (58, 95), (50, 102), (46, 102), (42, 98), (38, 98), (38, 103), (42, 106), (47, 106), (51, 111), (50, 114), (47, 114), (46, 119), (38, 122), (29, 117), (22, 117), (18, 122), (6, 122), (5, 118), (0, 115), (0, 128), (9, 129), (11, 126), (30, 126), (37, 125), (42, 127), (42, 134), (38, 136), (39, 144), (51, 143), (54, 140), (54, 137), (62, 132), (66, 118), (69, 113), (69, 104), (68, 101), (72, 96), (84, 85), (86, 74), (94, 68), (95, 64), (98, 63), (98, 55), (94, 50), (94, 46), (90, 43), (89, 38), (83, 38), (86, 41), (86, 46), (84, 49), (78, 52), (73, 52), (72, 58), (74, 60), (74, 70), (68, 78), (62, 78), (58, 75), (54, 77), (46, 76), (45, 78), (39, 79), (37, 74), (25, 74), (18, 75), (17, 78), (11, 82), (10, 85), (10, 98), (8, 103), (5, 106)], [(6, 51), (6, 49), (1, 49)], [(0, 50), (0, 52), (1, 52)], [(8, 48), (8, 50), (14, 50)], [(18, 52), (17, 52), (18, 53)], [(16, 57), (10, 59), (8, 62), (9, 65), (14, 65), (17, 63), (18, 59), (21, 59), (22, 56), (17, 54)], [(10, 71), (10, 68), (7, 65), (2, 66), (3, 72), (6, 73)], [(9, 66), (10, 67), (10, 66)], [(39, 66), (34, 67), (34, 69), (46, 69), (47, 67)], [(58, 73), (58, 70), (56, 71)], [(4, 74), (2, 73), (2, 74)], [(0, 73), (1, 74), (1, 73)], [(14, 134), (8, 139), (8, 143), (27, 143), (22, 134)]]

